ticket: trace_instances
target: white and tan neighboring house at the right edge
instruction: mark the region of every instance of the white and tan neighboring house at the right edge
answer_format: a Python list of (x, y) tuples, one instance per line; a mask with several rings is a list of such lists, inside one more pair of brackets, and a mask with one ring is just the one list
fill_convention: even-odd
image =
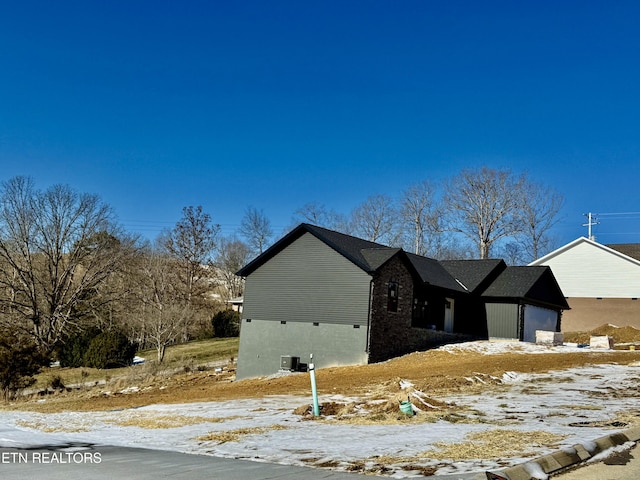
[(604, 324), (640, 328), (640, 244), (602, 245), (581, 237), (530, 265), (551, 267), (567, 297), (563, 332)]

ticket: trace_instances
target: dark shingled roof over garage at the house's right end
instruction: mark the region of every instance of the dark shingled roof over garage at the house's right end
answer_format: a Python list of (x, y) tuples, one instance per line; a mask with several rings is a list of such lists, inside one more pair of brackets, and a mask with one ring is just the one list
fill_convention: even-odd
[(482, 296), (522, 298), (569, 309), (549, 267), (507, 267)]

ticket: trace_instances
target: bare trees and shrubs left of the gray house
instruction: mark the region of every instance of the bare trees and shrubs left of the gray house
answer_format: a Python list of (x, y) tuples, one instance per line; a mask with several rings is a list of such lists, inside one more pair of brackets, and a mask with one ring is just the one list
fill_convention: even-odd
[(237, 315), (221, 321), (215, 314), (242, 293), (233, 273), (250, 255), (243, 242), (219, 238), (219, 226), (201, 207), (185, 207), (174, 228), (148, 242), (123, 231), (96, 195), (62, 185), (39, 190), (26, 177), (4, 182), (5, 398), (53, 359), (106, 368), (126, 363), (123, 351), (132, 358), (136, 348), (153, 347), (161, 362), (173, 343), (237, 335)]

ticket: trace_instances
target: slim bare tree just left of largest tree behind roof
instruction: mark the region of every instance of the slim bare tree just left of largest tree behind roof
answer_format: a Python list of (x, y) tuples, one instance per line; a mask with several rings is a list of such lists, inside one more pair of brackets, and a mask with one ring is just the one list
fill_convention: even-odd
[(429, 243), (442, 230), (435, 192), (435, 186), (425, 180), (411, 185), (402, 194), (400, 215), (411, 248), (418, 255), (430, 253)]

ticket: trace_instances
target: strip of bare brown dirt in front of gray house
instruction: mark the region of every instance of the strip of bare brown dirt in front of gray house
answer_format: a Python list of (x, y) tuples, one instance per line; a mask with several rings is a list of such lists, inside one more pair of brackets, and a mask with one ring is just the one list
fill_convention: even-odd
[[(317, 371), (317, 384), (321, 395), (354, 397), (367, 395), (389, 398), (400, 395), (399, 380), (413, 383), (425, 392), (434, 404), (440, 396), (473, 392), (486, 386), (469, 380), (470, 374), (491, 381), (506, 372), (543, 373), (589, 364), (629, 364), (640, 361), (640, 347), (628, 351), (629, 344), (640, 346), (640, 330), (630, 327), (604, 326), (589, 334), (574, 334), (565, 341), (581, 343), (591, 334), (612, 335), (618, 348), (627, 351), (592, 351), (563, 353), (561, 355), (500, 353), (486, 355), (473, 351), (450, 353), (442, 350), (416, 352), (387, 362), (350, 367), (325, 368)], [(140, 367), (132, 367), (134, 369)], [(128, 388), (135, 385), (135, 388)], [(122, 392), (126, 393), (122, 393)], [(259, 398), (267, 395), (308, 395), (309, 375), (292, 374), (258, 379), (234, 381), (234, 365), (222, 371), (180, 373), (170, 377), (132, 374), (128, 380), (115, 384), (96, 385), (48, 395), (46, 402), (37, 395), (24, 398), (10, 409), (39, 412), (114, 410), (159, 403), (188, 403), (240, 398)], [(406, 395), (406, 394), (405, 394)], [(325, 406), (329, 408), (329, 406)]]

